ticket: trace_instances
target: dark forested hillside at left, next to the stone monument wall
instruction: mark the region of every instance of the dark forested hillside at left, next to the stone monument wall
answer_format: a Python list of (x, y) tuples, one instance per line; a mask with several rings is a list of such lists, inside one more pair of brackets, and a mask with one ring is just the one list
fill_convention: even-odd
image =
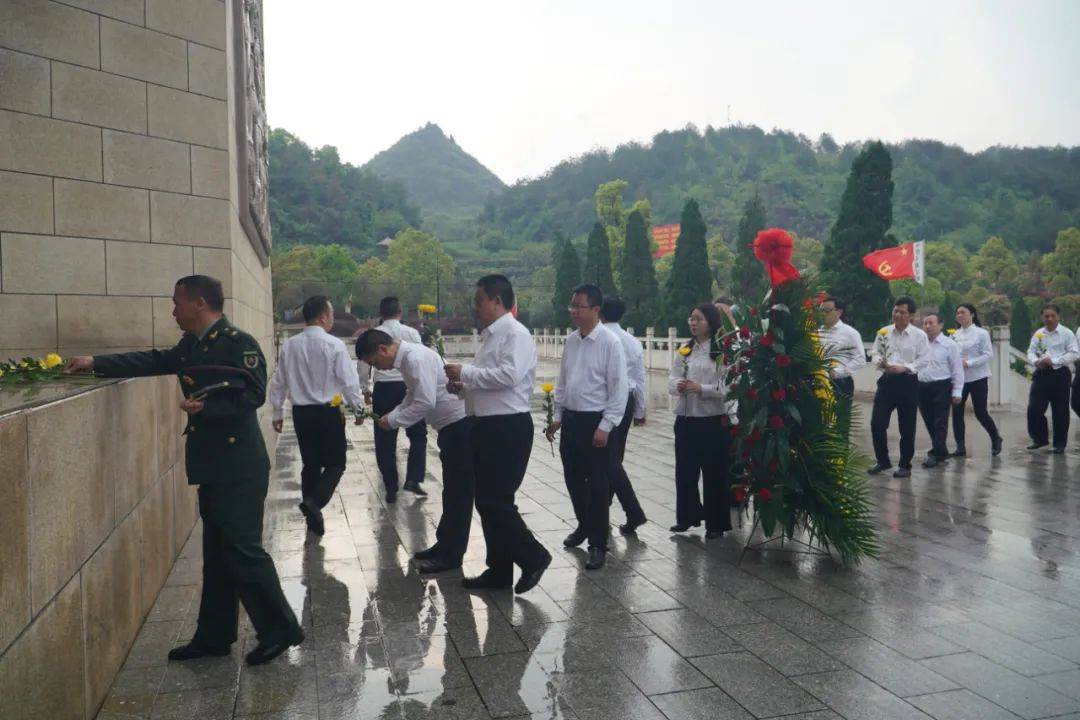
[(274, 248), (337, 244), (368, 255), (376, 243), (420, 225), (420, 210), (397, 182), (342, 163), (337, 149), (312, 149), (295, 135), (270, 133), (270, 221)]

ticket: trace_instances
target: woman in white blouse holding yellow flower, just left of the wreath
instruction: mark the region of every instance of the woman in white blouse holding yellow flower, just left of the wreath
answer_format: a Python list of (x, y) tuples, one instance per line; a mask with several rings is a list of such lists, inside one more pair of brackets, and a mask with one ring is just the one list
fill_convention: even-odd
[[(689, 355), (676, 355), (667, 392), (675, 396), (675, 525), (686, 532), (705, 521), (705, 538), (720, 538), (731, 529), (728, 480), (731, 434), (726, 388), (716, 361), (716, 332), (723, 327), (712, 303), (693, 309), (689, 318)], [(725, 420), (727, 418), (727, 420)], [(702, 477), (704, 505), (698, 493)]]

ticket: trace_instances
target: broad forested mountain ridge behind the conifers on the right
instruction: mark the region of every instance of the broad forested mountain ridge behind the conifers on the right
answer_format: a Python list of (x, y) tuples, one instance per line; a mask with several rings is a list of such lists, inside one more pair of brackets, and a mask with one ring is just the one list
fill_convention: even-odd
[[(596, 150), (514, 185), (486, 203), (480, 233), (501, 233), (508, 246), (549, 240), (556, 229), (580, 236), (596, 219), (597, 186), (620, 178), (629, 182), (629, 201), (649, 200), (657, 225), (677, 221), (693, 198), (710, 234), (733, 237), (743, 205), (757, 191), (770, 226), (825, 239), (862, 147), (754, 126), (663, 132), (649, 145)], [(1020, 253), (1045, 253), (1058, 230), (1080, 222), (1080, 148), (972, 154), (934, 140), (888, 147), (899, 237), (974, 250), (997, 235)]]

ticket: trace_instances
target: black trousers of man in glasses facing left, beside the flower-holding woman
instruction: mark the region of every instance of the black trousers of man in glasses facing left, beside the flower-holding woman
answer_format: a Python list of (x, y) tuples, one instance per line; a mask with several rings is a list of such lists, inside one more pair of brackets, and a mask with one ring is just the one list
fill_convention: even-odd
[[(563, 410), (563, 429), (558, 438), (558, 454), (563, 459), (563, 476), (570, 491), (578, 530), (589, 536), (589, 546), (607, 549), (608, 511), (611, 503), (611, 446), (593, 447), (593, 435), (603, 420), (603, 412)], [(611, 433), (613, 434), (613, 433)]]

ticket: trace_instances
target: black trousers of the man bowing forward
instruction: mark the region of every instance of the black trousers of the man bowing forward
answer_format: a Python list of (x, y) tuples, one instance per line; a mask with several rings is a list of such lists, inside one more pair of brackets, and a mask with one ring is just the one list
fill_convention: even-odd
[(473, 472), (471, 441), (473, 418), (462, 418), (438, 431), (438, 460), (443, 463), (443, 514), (435, 529), (438, 554), (460, 562), (469, 546), (472, 526), (473, 495), (476, 477)]

